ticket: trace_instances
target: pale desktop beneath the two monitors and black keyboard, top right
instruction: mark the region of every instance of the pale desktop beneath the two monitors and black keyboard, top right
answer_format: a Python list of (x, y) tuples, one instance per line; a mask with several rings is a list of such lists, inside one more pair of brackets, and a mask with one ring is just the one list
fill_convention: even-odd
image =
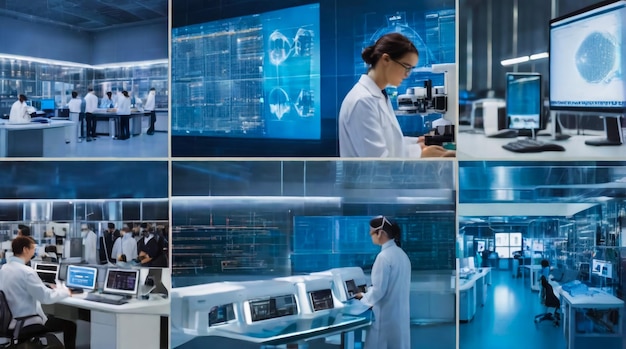
[(554, 141), (548, 136), (539, 136), (537, 140), (556, 143), (565, 151), (548, 151), (542, 153), (514, 153), (502, 148), (502, 145), (513, 142), (516, 138), (488, 138), (482, 133), (467, 133), (459, 130), (457, 138), (457, 158), (459, 160), (566, 160), (589, 158), (594, 160), (623, 159), (626, 145), (595, 147), (585, 144), (585, 140), (602, 138), (601, 136), (572, 136), (564, 141)]

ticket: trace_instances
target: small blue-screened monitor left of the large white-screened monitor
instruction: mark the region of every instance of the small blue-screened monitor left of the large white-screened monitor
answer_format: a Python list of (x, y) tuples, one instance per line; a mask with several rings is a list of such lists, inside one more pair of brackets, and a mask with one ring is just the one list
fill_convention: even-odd
[(542, 117), (541, 75), (506, 74), (506, 118), (509, 129), (532, 135), (545, 128)]

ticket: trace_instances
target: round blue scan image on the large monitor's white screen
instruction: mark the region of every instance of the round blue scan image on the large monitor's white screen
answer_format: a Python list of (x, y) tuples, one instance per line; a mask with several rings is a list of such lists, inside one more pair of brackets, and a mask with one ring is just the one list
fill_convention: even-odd
[(576, 51), (576, 68), (587, 82), (599, 83), (611, 78), (616, 59), (617, 50), (610, 34), (593, 32)]

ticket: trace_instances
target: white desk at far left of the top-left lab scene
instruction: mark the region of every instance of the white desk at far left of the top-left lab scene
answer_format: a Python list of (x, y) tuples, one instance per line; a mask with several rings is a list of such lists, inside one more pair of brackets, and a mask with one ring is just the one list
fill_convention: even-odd
[(9, 124), (0, 121), (0, 157), (65, 156), (66, 127), (76, 127), (76, 123), (50, 120), (46, 124)]

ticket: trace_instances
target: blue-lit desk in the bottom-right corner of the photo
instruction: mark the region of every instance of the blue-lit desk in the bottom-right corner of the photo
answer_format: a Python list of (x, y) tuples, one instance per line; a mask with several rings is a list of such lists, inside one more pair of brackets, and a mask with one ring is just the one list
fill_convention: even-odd
[(597, 288), (576, 296), (562, 288), (559, 293), (568, 349), (621, 348), (624, 301)]

